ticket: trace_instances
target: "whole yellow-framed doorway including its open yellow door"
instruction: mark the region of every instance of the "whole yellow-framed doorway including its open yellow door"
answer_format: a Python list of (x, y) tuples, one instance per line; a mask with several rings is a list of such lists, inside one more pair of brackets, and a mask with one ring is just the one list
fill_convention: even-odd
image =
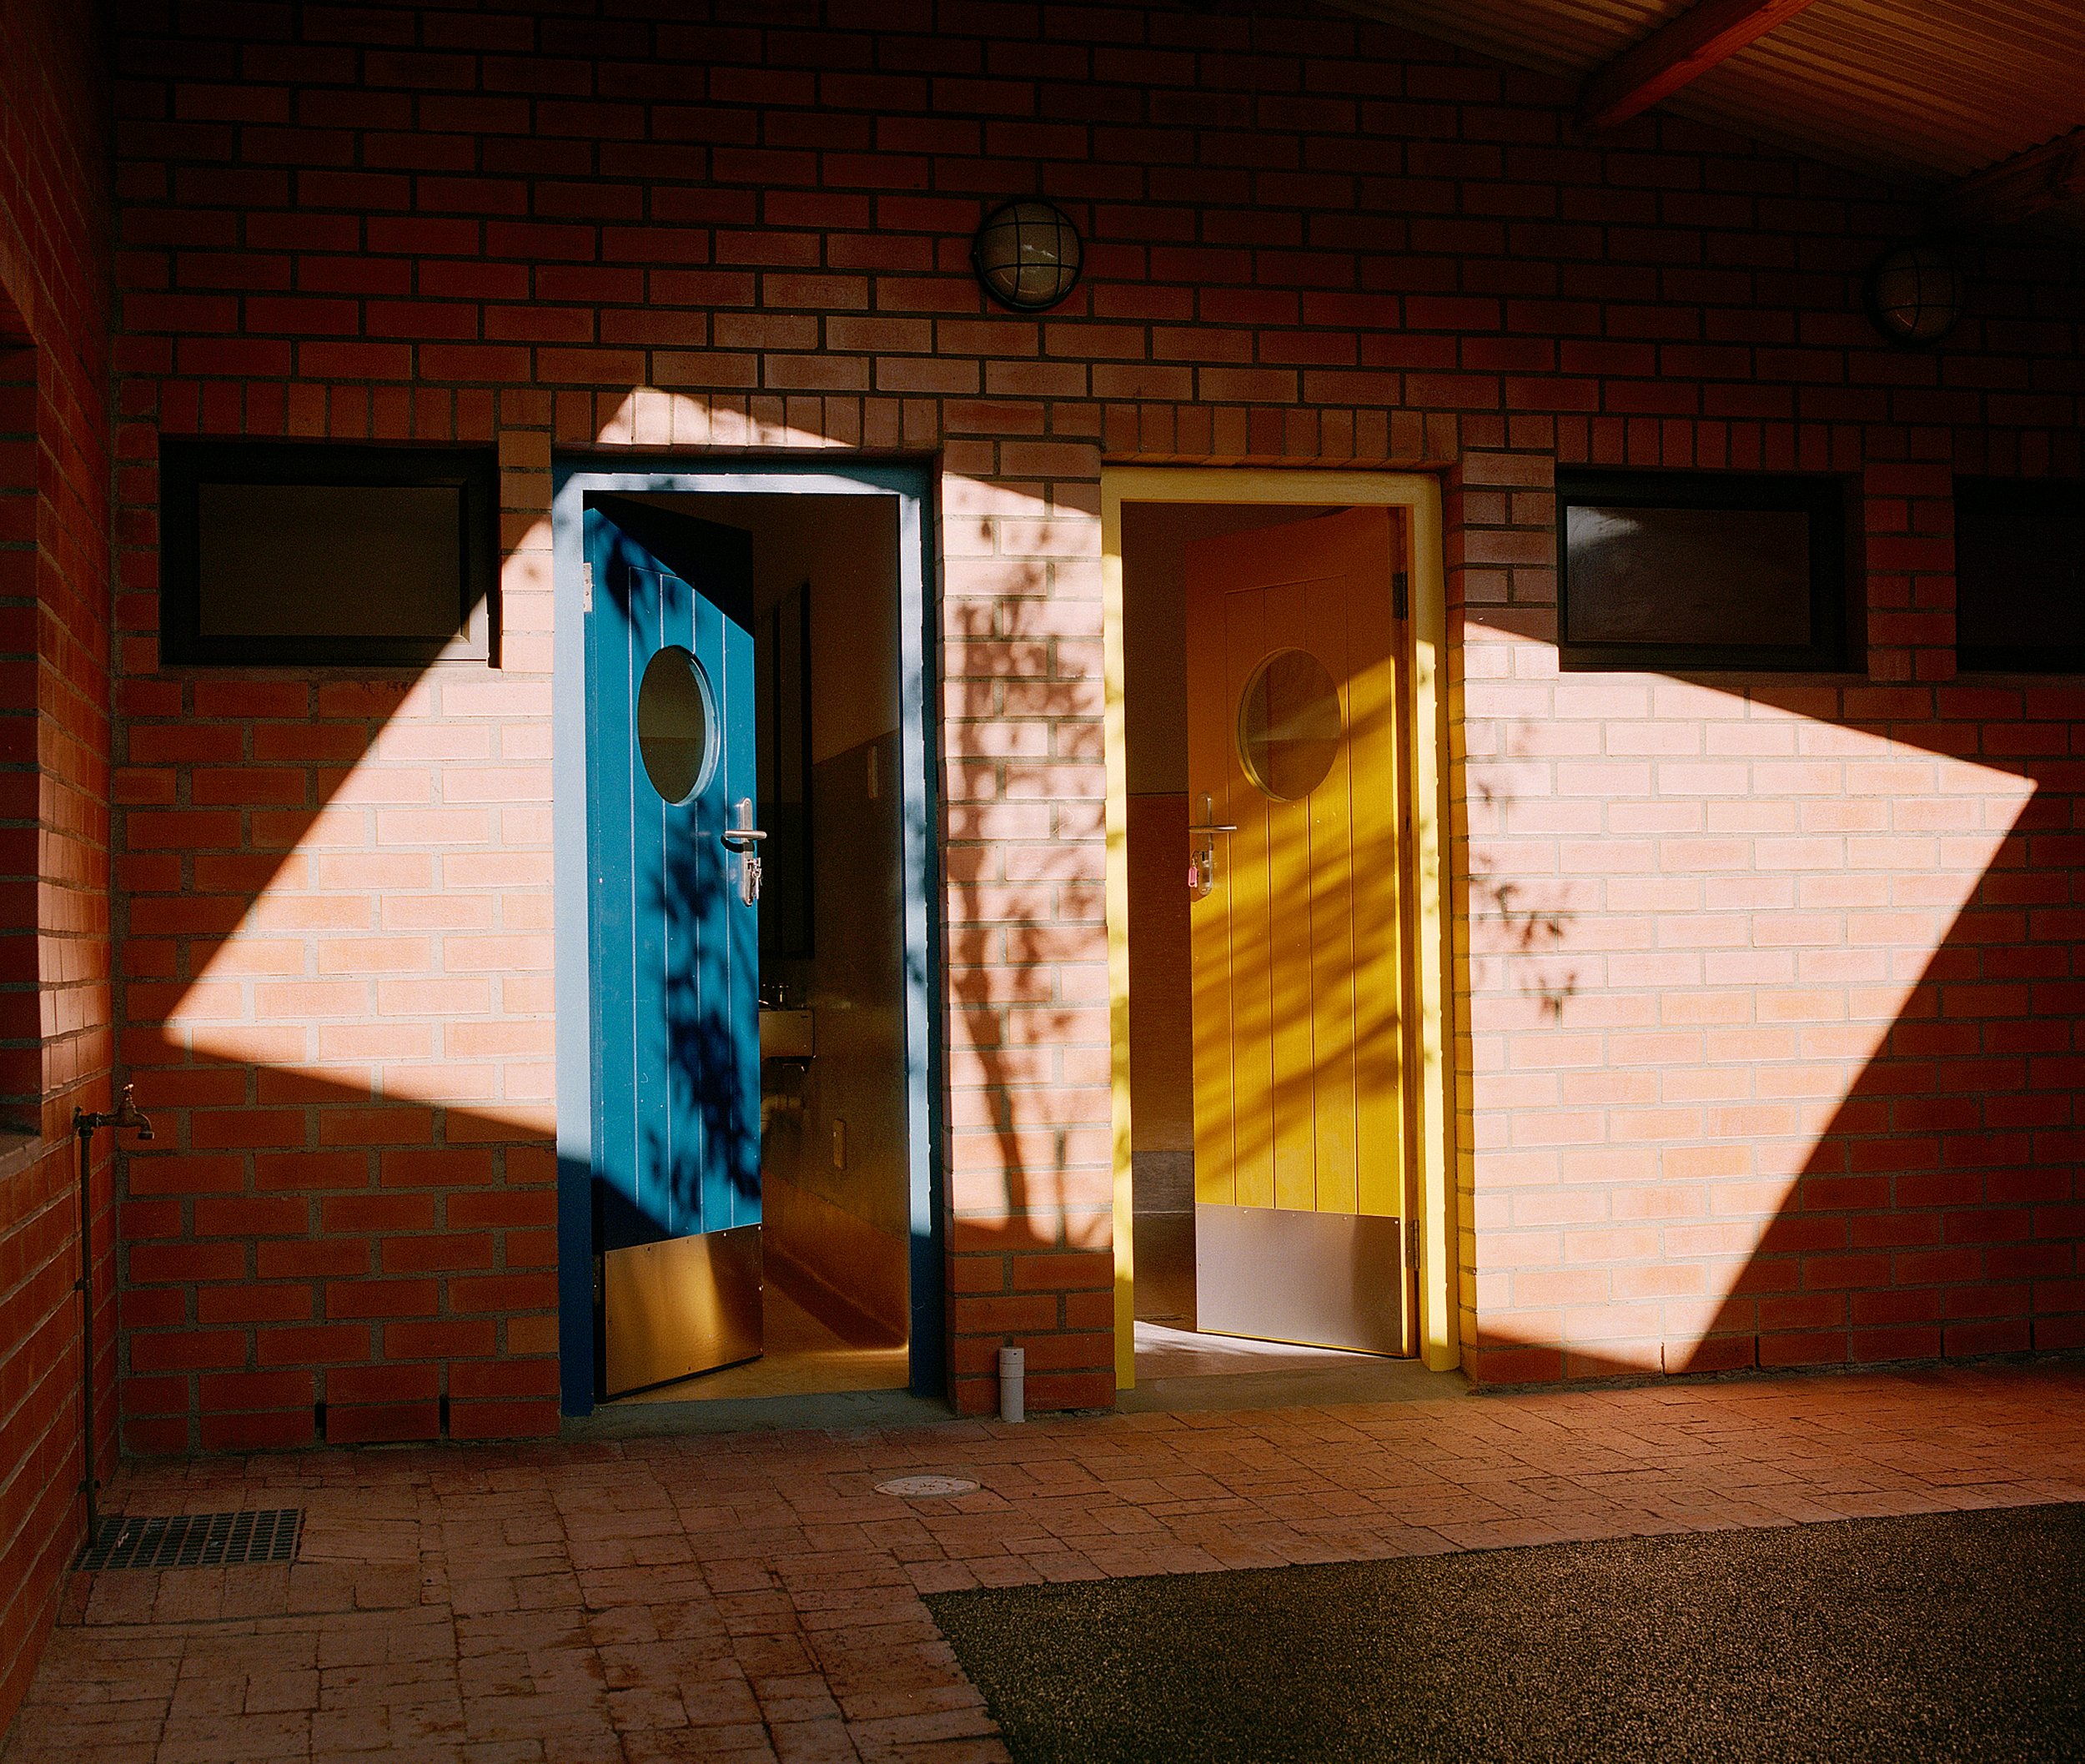
[(1428, 1345), (1414, 523), (1305, 475), (1228, 500), (1228, 477), (1120, 473), (1107, 498), (1124, 1387)]

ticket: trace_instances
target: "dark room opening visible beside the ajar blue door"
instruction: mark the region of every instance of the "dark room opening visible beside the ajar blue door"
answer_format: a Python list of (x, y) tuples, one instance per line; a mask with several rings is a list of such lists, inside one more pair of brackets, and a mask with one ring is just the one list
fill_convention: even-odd
[(761, 1353), (644, 1401), (909, 1385), (899, 523), (888, 496), (653, 494), (742, 532), (759, 780)]

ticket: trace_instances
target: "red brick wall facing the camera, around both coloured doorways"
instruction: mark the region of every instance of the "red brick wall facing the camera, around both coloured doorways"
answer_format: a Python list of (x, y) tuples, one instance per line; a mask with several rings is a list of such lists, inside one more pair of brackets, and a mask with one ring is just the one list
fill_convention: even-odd
[[(186, 930), (148, 924), (148, 897), (202, 913), (181, 865), (236, 855), (263, 815), (279, 840), (281, 811), (315, 815), (327, 767), (348, 763), (263, 761), (263, 734), (319, 740), (346, 721), (354, 749), (377, 721), (329, 709), (338, 682), (263, 707), (154, 671), (154, 430), (498, 436), (509, 540), (528, 546), (553, 444), (938, 450), (957, 1391), (986, 1403), (992, 1353), (1017, 1339), (1038, 1407), (1107, 1401), (1101, 461), (1453, 469), (1460, 1255), (1476, 1370), (2066, 1339), (2085, 1303), (2064, 1284), (2077, 928), (2054, 755), (2072, 705), (2050, 684), (1945, 684), (1937, 490), (1952, 463), (2079, 471), (2075, 254), (1987, 252), (1958, 338), (1889, 350), (1860, 311), (1862, 269), (1916, 219), (1889, 192), (1672, 119), (1593, 148), (1549, 81), (1309, 8), (834, 0), (655, 21), (138, 4), (127, 19), (125, 788), (146, 794), (121, 849), (129, 874), (156, 878), (129, 884), (136, 999), (194, 982), (256, 884), (217, 890), (219, 917)], [(1022, 190), (1065, 202), (1088, 240), (1084, 286), (1040, 321), (984, 309), (967, 273), (984, 204)], [(1864, 669), (1735, 690), (1562, 680), (1560, 459), (1858, 477)], [(475, 676), (517, 763), (505, 742), (540, 717), (534, 667)], [(450, 678), (425, 688), (427, 732), (450, 726)], [(150, 746), (171, 738), (194, 746)], [(2047, 836), (2006, 834), (2022, 774)], [(450, 767), (415, 771), (400, 753), (407, 776), (444, 815), (459, 807)], [(1856, 849), (1876, 807), (1899, 842)], [(211, 819), (165, 819), (198, 813)], [(390, 855), (382, 811), (357, 813), (327, 811), (338, 842), (321, 863)], [(427, 826), (402, 849), (446, 861), (471, 842), (457, 822)], [(507, 838), (486, 824), (488, 853)], [(1995, 880), (1979, 880), (1993, 849)], [(2060, 899), (2029, 909), (2012, 872)], [(375, 880), (342, 888), (354, 934), (394, 930)], [(500, 913), (538, 899), (511, 878), (486, 888)], [(1555, 932), (1495, 957), (1528, 913)], [(292, 930), (273, 938), (279, 959), (317, 984), (344, 930)], [(269, 938), (254, 926), (248, 940)], [(398, 942), (390, 984), (446, 984), (438, 945)], [(225, 1007), (267, 1028), (250, 984)], [(457, 1070), (434, 997), (419, 1011), (444, 1036), (430, 1074)], [(505, 999), (480, 1007), (475, 993), (461, 1005), (488, 1036), (509, 1022)], [(131, 1011), (158, 1068), (142, 1080), (179, 1099), (169, 1174), (150, 1178), (169, 1186), (140, 1186), (146, 1161), (131, 1166), (133, 1349), (196, 1351), (181, 1326), (206, 1295), (259, 1305), (267, 1291), (294, 1316), (217, 1316), (208, 1366), (133, 1355), (133, 1439), (296, 1437), (313, 1393), (332, 1403), (350, 1372), (384, 1387), (371, 1403), (425, 1405), (440, 1376), (502, 1366), (498, 1343), (480, 1359), (329, 1316), (336, 1293), (365, 1303), (363, 1287), (398, 1278), (394, 1234), (459, 1241), (427, 1251), (442, 1257), (465, 1241), (482, 1255), (494, 1232), (505, 1261), (434, 1272), (419, 1322), (511, 1334), (519, 1320), (542, 1341), (540, 1287), (457, 1303), (463, 1280), (513, 1278), (513, 1228), (546, 1222), (530, 1211), (534, 1166), (517, 1182), (513, 1151), (488, 1168), (450, 1143), (444, 1120), (484, 1109), (475, 1091), (425, 1128), (413, 1118), (413, 1193), (432, 1214), (348, 1209), (336, 1203), (388, 1197), (386, 1157), (407, 1145), (315, 1159), (334, 1157), (329, 1111), (371, 1111), (361, 1072), (394, 1055), (342, 1055), (352, 1097), (284, 1099), (277, 1057), (319, 1082), (319, 1013), (298, 1015), (304, 1055), (254, 1043), (213, 1063), (152, 1026), (173, 1009)], [(521, 1022), (528, 1049), (486, 1045), (467, 1082), (534, 1070), (540, 1020)], [(2018, 1111), (1993, 1101), (2012, 1080)], [(505, 1247), (457, 1197), (521, 1207)], [(1979, 1236), (2000, 1230), (2014, 1234)], [(336, 1324), (350, 1332), (321, 1334)], [(471, 1349), (486, 1345), (480, 1330)]]

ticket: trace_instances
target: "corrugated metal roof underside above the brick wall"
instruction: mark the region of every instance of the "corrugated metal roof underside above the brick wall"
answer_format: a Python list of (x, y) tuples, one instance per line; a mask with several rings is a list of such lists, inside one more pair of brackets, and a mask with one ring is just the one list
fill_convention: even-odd
[[(1566, 79), (1687, 10), (1683, 0), (1336, 4)], [(2085, 4), (1816, 0), (1662, 108), (1939, 190), (2085, 125)]]

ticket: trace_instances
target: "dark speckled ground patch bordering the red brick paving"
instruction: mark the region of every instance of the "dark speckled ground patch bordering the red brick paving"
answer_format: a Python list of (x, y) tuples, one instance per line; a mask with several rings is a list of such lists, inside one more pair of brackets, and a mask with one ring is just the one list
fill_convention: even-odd
[(1020, 1764), (2085, 1756), (2085, 1505), (926, 1603)]

